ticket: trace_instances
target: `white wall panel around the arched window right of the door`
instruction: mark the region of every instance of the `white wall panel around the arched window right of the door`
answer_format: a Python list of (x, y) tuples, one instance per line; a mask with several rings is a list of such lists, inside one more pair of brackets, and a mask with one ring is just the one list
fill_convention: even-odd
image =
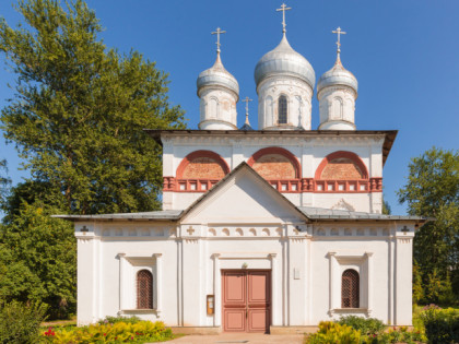
[[(311, 305), (313, 323), (345, 315), (375, 317), (388, 323), (387, 246), (387, 240), (381, 238), (353, 240), (337, 236), (332, 239), (314, 239), (311, 293), (316, 297)], [(368, 271), (369, 260), (372, 268)], [(374, 266), (377, 266), (377, 271)], [(360, 309), (341, 307), (341, 275), (346, 269), (354, 269), (360, 274)]]

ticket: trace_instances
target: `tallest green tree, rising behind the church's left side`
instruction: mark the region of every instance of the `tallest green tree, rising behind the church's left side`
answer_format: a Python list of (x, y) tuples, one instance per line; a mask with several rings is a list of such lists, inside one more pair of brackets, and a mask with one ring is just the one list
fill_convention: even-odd
[(167, 75), (137, 51), (107, 50), (82, 0), (21, 0), (25, 26), (0, 21), (0, 51), (15, 73), (1, 129), (52, 203), (80, 213), (158, 206), (161, 146), (142, 129), (185, 128)]

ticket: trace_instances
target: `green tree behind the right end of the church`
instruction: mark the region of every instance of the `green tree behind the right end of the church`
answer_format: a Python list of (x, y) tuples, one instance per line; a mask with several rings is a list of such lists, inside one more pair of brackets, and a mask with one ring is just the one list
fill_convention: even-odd
[(424, 286), (432, 286), (434, 276), (438, 285), (451, 278), (459, 299), (459, 151), (433, 147), (413, 158), (398, 195), (411, 215), (436, 218), (414, 237), (414, 259)]

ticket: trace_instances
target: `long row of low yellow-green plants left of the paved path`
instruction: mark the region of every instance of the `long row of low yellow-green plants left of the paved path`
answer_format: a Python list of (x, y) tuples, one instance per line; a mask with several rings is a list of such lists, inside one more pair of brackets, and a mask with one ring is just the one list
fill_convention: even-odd
[[(114, 318), (118, 319), (118, 318)], [(173, 339), (170, 329), (163, 322), (138, 321), (91, 324), (89, 327), (59, 329), (49, 328), (43, 333), (42, 342), (52, 344), (68, 343), (150, 343)]]

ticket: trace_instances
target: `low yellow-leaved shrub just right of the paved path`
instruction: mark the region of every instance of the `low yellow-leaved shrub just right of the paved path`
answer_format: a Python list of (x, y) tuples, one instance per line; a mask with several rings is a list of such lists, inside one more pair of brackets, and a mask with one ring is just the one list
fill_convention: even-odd
[(310, 335), (306, 343), (309, 344), (358, 344), (361, 332), (345, 324), (332, 321), (321, 321), (319, 331)]

